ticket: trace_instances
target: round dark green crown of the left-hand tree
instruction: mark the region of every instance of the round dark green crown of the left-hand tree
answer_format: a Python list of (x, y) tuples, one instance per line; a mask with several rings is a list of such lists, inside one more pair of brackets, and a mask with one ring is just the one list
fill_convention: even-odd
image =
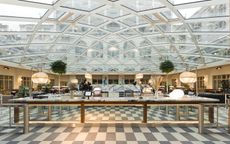
[(58, 74), (66, 73), (66, 63), (61, 60), (57, 60), (51, 63), (50, 66), (51, 66), (51, 70), (54, 73), (58, 73)]

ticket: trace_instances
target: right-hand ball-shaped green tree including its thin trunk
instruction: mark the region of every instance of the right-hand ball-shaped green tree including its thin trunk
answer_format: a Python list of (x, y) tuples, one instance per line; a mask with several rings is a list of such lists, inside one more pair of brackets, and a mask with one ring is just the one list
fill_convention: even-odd
[(168, 73), (174, 70), (174, 65), (170, 60), (165, 60), (164, 62), (161, 62), (160, 70), (163, 73), (166, 73), (166, 91), (168, 93)]

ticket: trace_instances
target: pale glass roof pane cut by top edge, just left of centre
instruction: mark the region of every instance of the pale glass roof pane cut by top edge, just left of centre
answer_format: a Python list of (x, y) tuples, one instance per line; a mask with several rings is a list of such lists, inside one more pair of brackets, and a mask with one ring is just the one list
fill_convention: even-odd
[(95, 0), (68, 0), (63, 6), (73, 9), (92, 11), (103, 6), (103, 4), (96, 2)]

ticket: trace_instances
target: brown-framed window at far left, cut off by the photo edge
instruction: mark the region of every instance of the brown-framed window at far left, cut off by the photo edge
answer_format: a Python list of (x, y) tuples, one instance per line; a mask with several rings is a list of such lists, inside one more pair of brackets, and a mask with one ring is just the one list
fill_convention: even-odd
[(13, 76), (0, 75), (0, 93), (10, 94), (13, 89)]

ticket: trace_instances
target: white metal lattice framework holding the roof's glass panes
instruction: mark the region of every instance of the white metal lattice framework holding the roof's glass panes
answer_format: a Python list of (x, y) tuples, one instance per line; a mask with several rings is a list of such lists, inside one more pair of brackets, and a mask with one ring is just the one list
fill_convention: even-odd
[[(224, 38), (227, 38), (227, 40), (230, 41), (229, 38), (229, 15), (230, 15), (230, 4), (228, 0), (211, 0), (211, 1), (198, 1), (193, 3), (185, 3), (185, 4), (179, 4), (179, 5), (173, 5), (168, 0), (159, 0), (159, 2), (163, 5), (163, 7), (155, 8), (155, 9), (146, 9), (143, 11), (136, 11), (134, 9), (131, 9), (128, 4), (125, 4), (125, 1), (127, 0), (118, 0), (115, 2), (111, 2), (108, 0), (97, 0), (97, 3), (100, 3), (100, 7), (97, 7), (91, 11), (87, 10), (79, 10), (79, 9), (72, 9), (63, 7), (63, 5), (68, 0), (58, 0), (53, 5), (49, 4), (43, 4), (43, 3), (37, 3), (37, 2), (29, 2), (29, 1), (18, 1), (18, 0), (1, 0), (0, 4), (10, 4), (10, 5), (17, 5), (17, 6), (27, 6), (31, 8), (43, 8), (47, 9), (47, 12), (40, 18), (26, 18), (26, 17), (9, 17), (9, 16), (0, 16), (0, 20), (3, 21), (20, 21), (20, 22), (35, 22), (36, 26), (33, 31), (29, 32), (11, 32), (11, 31), (2, 31), (0, 32), (0, 36), (9, 36), (9, 35), (25, 35), (30, 34), (31, 36), (24, 44), (17, 44), (14, 45), (6, 44), (0, 46), (0, 52), (9, 52), (11, 54), (9, 55), (0, 55), (0, 60), (11, 62), (13, 65), (21, 67), (21, 65), (25, 67), (36, 67), (41, 64), (45, 64), (44, 69), (49, 69), (49, 63), (52, 61), (55, 61), (57, 59), (62, 59), (67, 62), (68, 66), (68, 73), (76, 73), (78, 69), (71, 67), (73, 64), (78, 63), (81, 61), (82, 64), (78, 65), (80, 68), (86, 68), (88, 72), (94, 72), (91, 68), (94, 67), (93, 61), (95, 57), (90, 56), (89, 50), (93, 50), (97, 52), (98, 54), (101, 54), (102, 58), (96, 58), (100, 60), (101, 65), (103, 65), (102, 73), (109, 72), (109, 67), (113, 67), (114, 69), (118, 69), (117, 72), (124, 72), (124, 67), (132, 67), (135, 71), (138, 72), (141, 71), (141, 67), (138, 67), (137, 65), (145, 65), (148, 66), (150, 69), (150, 72), (157, 72), (159, 73), (158, 68), (159, 63), (161, 60), (158, 57), (168, 58), (172, 59), (174, 61), (179, 61), (178, 64), (176, 64), (177, 71), (183, 71), (184, 67), (190, 67), (190, 68), (202, 68), (207, 67), (210, 65), (213, 65), (215, 63), (218, 64), (224, 64), (226, 60), (230, 58), (230, 53), (228, 54), (221, 54), (224, 50), (229, 49), (229, 45), (222, 45), (222, 44), (215, 44), (215, 41), (222, 40)], [(89, 0), (90, 2), (91, 0)], [(138, 0), (136, 0), (138, 1)], [(188, 8), (195, 8), (195, 7), (207, 7), (212, 5), (219, 5), (223, 4), (226, 6), (226, 15), (223, 16), (215, 16), (215, 17), (205, 17), (205, 18), (190, 18), (185, 19), (180, 12), (179, 9), (188, 9)], [(109, 10), (111, 7), (116, 8), (120, 11), (125, 11), (127, 14), (121, 15), (119, 17), (109, 17), (106, 16), (106, 14), (101, 14), (101, 12), (104, 12), (105, 10)], [(64, 16), (68, 16), (68, 13), (73, 13), (73, 15), (79, 15), (74, 20), (62, 20), (61, 16), (57, 19), (50, 19), (49, 16), (54, 12), (55, 10), (62, 10), (65, 12)], [(208, 9), (206, 9), (208, 11)], [(177, 16), (176, 19), (168, 19), (165, 17), (162, 12), (170, 11), (173, 14)], [(99, 14), (100, 13), (100, 14)], [(201, 11), (200, 11), (201, 13)], [(1, 14), (0, 14), (1, 15)], [(156, 20), (153, 20), (149, 17), (149, 15), (153, 15), (156, 17)], [(85, 23), (82, 23), (82, 20), (84, 18), (94, 17), (103, 20), (99, 25), (87, 25)], [(144, 25), (140, 25), (137, 23), (137, 20), (135, 21), (135, 26), (129, 26), (126, 22), (123, 22), (124, 19), (135, 17), (136, 19), (143, 18), (146, 22)], [(68, 19), (68, 17), (66, 18)], [(191, 29), (190, 23), (193, 22), (200, 22), (201, 24), (205, 22), (221, 22), (226, 21), (226, 29), (225, 31), (222, 30), (216, 30), (216, 31), (193, 31)], [(67, 27), (61, 31), (61, 32), (41, 32), (39, 31), (39, 28), (44, 23), (52, 23), (52, 24), (66, 24)], [(117, 23), (119, 27), (123, 27), (120, 30), (115, 31), (109, 31), (104, 29), (105, 26), (111, 24), (111, 23)], [(172, 27), (173, 24), (182, 23), (182, 26), (185, 27), (185, 32), (167, 32), (163, 31), (159, 26), (160, 25), (170, 25)], [(84, 34), (79, 33), (69, 33), (68, 30), (72, 27), (85, 27), (90, 28), (90, 30), (85, 31)], [(142, 33), (139, 31), (140, 28), (154, 28), (156, 32), (146, 34), (145, 32)], [(105, 34), (101, 37), (93, 36), (91, 32), (95, 30), (100, 30), (104, 32)], [(125, 35), (122, 35), (121, 33), (125, 32), (126, 30), (131, 30), (135, 32), (134, 36), (131, 37), (125, 37)], [(48, 35), (55, 35), (57, 36), (54, 41), (50, 43), (36, 43), (39, 45), (48, 45), (47, 51), (43, 53), (37, 53), (36, 50), (29, 52), (28, 49), (32, 47), (35, 43), (33, 43), (33, 40), (35, 38), (35, 35), (37, 34), (48, 34)], [(196, 35), (206, 36), (206, 35), (216, 35), (219, 34), (220, 37), (216, 38), (213, 42), (210, 42), (209, 44), (203, 44), (198, 42), (198, 39), (196, 38)], [(68, 42), (63, 43), (63, 47), (65, 45), (68, 45), (69, 47), (65, 48), (64, 52), (55, 52), (56, 46), (59, 45), (59, 39), (63, 36), (70, 35), (75, 37), (75, 41), (71, 44)], [(191, 38), (191, 43), (178, 43), (174, 42), (172, 38), (174, 36), (180, 36), (180, 35), (187, 35)], [(109, 39), (109, 37), (117, 37), (121, 39), (121, 41), (116, 41), (113, 43), (112, 39)], [(156, 43), (151, 41), (151, 37), (157, 37), (162, 36), (166, 38), (168, 41), (167, 43)], [(68, 39), (68, 38), (67, 38)], [(78, 46), (78, 42), (81, 40), (94, 41), (93, 43), (89, 43), (89, 41), (86, 41), (87, 46)], [(147, 46), (139, 46), (140, 42), (136, 42), (135, 39), (144, 39), (146, 41), (150, 42), (150, 45)], [(95, 48), (96, 44), (98, 42), (101, 42), (103, 45), (103, 51), (100, 51)], [(124, 44), (130, 43), (131, 47), (128, 51), (124, 50)], [(179, 47), (184, 46), (185, 50), (180, 50)], [(23, 53), (17, 53), (17, 47), (23, 47)], [(76, 54), (75, 50), (76, 47), (81, 47), (84, 49), (84, 51), (80, 54)], [(108, 55), (109, 48), (110, 47), (117, 47), (119, 51), (119, 55), (117, 57), (110, 57)], [(215, 55), (211, 52), (204, 52), (204, 48), (216, 48), (217, 53), (219, 52), (219, 55)], [(151, 53), (148, 55), (140, 54), (141, 51), (145, 51), (146, 48), (151, 49)], [(167, 52), (165, 52), (166, 49)], [(134, 57), (129, 57), (129, 59), (126, 59), (124, 57), (124, 53), (132, 52), (132, 50), (135, 50), (136, 54)], [(39, 56), (39, 57), (38, 57)], [(53, 57), (50, 59), (50, 57)], [(143, 61), (142, 57), (149, 57), (150, 61)], [(191, 57), (194, 57), (191, 59)], [(84, 58), (84, 59), (83, 59)], [(33, 61), (33, 59), (37, 59), (37, 61)], [(20, 61), (17, 61), (20, 60)], [(110, 62), (108, 62), (110, 61)], [(209, 62), (211, 61), (211, 63)], [(127, 63), (125, 63), (127, 62)], [(114, 63), (114, 64), (111, 64)], [(135, 64), (129, 64), (129, 63), (135, 63)], [(87, 65), (87, 66), (85, 66)], [(153, 65), (152, 67), (149, 67), (149, 65)], [(81, 71), (77, 71), (80, 72)], [(96, 72), (98, 73), (98, 72)], [(130, 73), (130, 72), (128, 72)]]

